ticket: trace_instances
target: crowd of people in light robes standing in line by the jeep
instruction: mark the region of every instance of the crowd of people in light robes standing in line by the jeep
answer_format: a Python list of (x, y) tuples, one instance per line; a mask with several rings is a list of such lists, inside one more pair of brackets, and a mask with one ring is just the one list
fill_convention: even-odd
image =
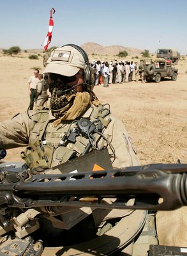
[(95, 68), (95, 85), (103, 85), (108, 87), (108, 84), (128, 83), (130, 81), (139, 80), (139, 65), (135, 61), (95, 61), (91, 66)]

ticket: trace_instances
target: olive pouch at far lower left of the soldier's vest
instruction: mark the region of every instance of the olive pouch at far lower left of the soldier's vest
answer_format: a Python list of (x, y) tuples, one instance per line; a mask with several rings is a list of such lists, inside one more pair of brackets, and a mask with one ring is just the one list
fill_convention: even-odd
[(36, 140), (33, 143), (29, 143), (24, 152), (21, 152), (21, 157), (26, 161), (27, 166), (30, 169), (41, 167), (48, 168), (47, 157), (43, 150), (41, 150), (40, 141)]

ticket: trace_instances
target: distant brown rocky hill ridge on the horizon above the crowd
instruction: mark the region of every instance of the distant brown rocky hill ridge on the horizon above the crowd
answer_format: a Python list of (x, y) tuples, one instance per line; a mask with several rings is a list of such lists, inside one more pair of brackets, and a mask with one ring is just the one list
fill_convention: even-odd
[(80, 45), (87, 54), (110, 54), (117, 55), (119, 52), (126, 51), (130, 56), (139, 56), (144, 50), (136, 49), (133, 47), (124, 47), (121, 45), (102, 46), (93, 42), (87, 42), (86, 44)]

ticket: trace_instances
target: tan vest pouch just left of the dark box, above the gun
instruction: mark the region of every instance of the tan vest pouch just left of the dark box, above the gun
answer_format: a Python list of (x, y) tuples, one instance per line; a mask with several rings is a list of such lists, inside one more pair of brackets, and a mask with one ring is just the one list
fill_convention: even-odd
[(71, 150), (71, 149), (63, 147), (63, 146), (58, 147), (58, 148), (56, 148), (56, 150), (54, 151), (54, 154), (52, 156), (51, 166), (53, 167), (58, 164), (65, 163), (66, 161), (71, 159), (73, 157), (73, 155), (75, 155), (75, 154), (76, 154), (76, 152), (74, 150)]

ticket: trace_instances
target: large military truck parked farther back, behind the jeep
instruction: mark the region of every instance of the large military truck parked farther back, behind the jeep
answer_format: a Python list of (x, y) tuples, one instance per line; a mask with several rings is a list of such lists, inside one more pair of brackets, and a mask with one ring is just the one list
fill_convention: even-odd
[(156, 52), (156, 58), (165, 58), (177, 64), (180, 54), (175, 49), (158, 49)]

